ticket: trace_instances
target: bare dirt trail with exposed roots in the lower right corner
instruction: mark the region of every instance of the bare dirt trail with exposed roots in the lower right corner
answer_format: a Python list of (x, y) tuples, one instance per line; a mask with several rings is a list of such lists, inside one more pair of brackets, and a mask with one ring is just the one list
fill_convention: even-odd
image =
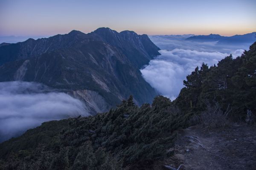
[(256, 125), (189, 127), (179, 132), (173, 151), (174, 167), (183, 163), (183, 170), (256, 170)]

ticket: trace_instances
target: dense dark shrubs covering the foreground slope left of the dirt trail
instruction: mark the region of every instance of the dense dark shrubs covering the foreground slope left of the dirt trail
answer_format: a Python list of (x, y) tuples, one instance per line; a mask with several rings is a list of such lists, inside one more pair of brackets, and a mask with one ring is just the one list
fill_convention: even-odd
[(130, 97), (107, 113), (45, 122), (3, 142), (0, 169), (148, 170), (167, 156), (184, 122), (166, 97), (140, 108)]

